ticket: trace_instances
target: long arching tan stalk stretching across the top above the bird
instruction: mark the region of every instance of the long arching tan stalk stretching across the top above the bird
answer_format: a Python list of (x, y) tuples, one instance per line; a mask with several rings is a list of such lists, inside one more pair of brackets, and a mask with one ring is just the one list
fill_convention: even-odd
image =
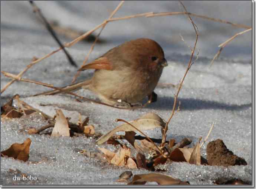
[[(120, 4), (119, 4), (120, 5)], [(118, 6), (119, 6), (118, 5)], [(119, 9), (117, 9), (118, 7), (116, 7), (116, 11)], [(113, 11), (113, 13), (115, 13)], [(188, 13), (188, 12), (165, 12), (165, 13), (153, 13), (153, 12), (149, 12), (149, 13), (142, 13), (142, 14), (134, 14), (131, 16), (125, 16), (125, 17), (119, 17), (119, 18), (111, 18), (108, 20), (104, 20), (101, 24), (99, 24), (98, 26), (96, 26), (95, 28), (93, 28), (90, 31), (87, 31), (86, 33), (82, 34), (81, 36), (75, 38), (73, 41), (70, 41), (69, 43), (66, 43), (64, 45), (64, 47), (71, 47), (72, 45), (78, 43), (79, 41), (83, 40), (84, 38), (86, 38), (87, 36), (89, 36), (90, 34), (92, 34), (95, 30), (98, 30), (99, 28), (103, 27), (106, 25), (106, 23), (110, 22), (110, 21), (118, 21), (118, 20), (125, 20), (125, 19), (130, 19), (130, 18), (137, 18), (137, 17), (155, 17), (155, 16), (170, 16), (170, 15), (177, 15), (177, 14), (187, 14), (192, 15), (192, 16), (196, 16), (196, 17), (200, 17), (200, 18), (204, 18), (207, 20), (211, 20), (211, 21), (216, 21), (216, 22), (220, 22), (220, 23), (226, 23), (226, 24), (231, 24), (232, 26), (236, 26), (236, 27), (242, 27), (242, 28), (251, 28), (249, 26), (244, 26), (242, 24), (234, 24), (231, 23), (229, 21), (225, 21), (225, 20), (220, 20), (220, 19), (215, 19), (215, 18), (210, 18), (210, 17), (206, 17), (206, 16), (201, 16), (201, 15), (197, 15), (197, 14), (193, 14), (193, 13)], [(114, 15), (114, 14), (113, 14)], [(17, 77), (21, 77), (27, 70), (29, 70), (30, 67), (32, 67), (33, 65), (35, 65), (36, 63), (39, 63), (41, 60), (44, 60), (45, 58), (50, 57), (51, 55), (57, 53), (58, 51), (62, 50), (62, 48), (60, 47), (59, 49), (52, 51), (49, 54), (46, 54), (44, 57), (39, 58), (35, 61), (32, 61), (32, 63), (30, 63), (29, 65), (27, 65), (27, 67), (21, 71)], [(10, 85), (13, 84), (13, 82), (16, 81), (15, 78), (13, 78), (12, 81), (8, 82), (2, 89), (1, 89), (1, 93), (3, 93)]]

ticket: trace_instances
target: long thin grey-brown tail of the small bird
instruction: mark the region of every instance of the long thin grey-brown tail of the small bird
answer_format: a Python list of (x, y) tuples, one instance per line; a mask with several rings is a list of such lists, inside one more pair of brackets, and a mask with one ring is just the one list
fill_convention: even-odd
[(76, 90), (79, 90), (81, 89), (82, 87), (83, 88), (86, 88), (86, 85), (89, 85), (91, 83), (91, 79), (89, 80), (85, 80), (85, 81), (81, 81), (81, 82), (78, 82), (78, 83), (75, 83), (75, 84), (71, 84), (71, 85), (68, 85), (66, 87), (62, 87), (61, 91), (58, 90), (58, 89), (55, 89), (55, 90), (52, 90), (52, 91), (47, 91), (47, 92), (42, 92), (42, 93), (39, 93), (39, 94), (35, 94), (33, 96), (39, 96), (39, 95), (53, 95), (53, 94), (58, 94), (60, 92), (70, 92), (70, 91), (76, 91)]

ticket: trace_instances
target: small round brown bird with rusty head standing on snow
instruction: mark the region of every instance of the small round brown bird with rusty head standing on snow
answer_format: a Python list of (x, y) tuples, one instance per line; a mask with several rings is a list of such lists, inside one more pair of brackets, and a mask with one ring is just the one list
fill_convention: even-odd
[[(154, 89), (167, 66), (164, 51), (154, 40), (138, 38), (112, 48), (81, 70), (95, 69), (89, 80), (68, 85), (62, 89), (73, 91), (85, 88), (93, 91), (109, 105), (131, 106), (143, 98), (157, 101)], [(53, 90), (39, 95), (56, 94)]]

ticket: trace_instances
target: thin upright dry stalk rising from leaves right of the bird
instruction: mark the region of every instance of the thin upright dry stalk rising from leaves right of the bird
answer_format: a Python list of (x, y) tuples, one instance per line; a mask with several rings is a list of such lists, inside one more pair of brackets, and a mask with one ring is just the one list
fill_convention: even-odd
[[(184, 6), (184, 4), (183, 4), (181, 1), (180, 1), (180, 3), (181, 3), (181, 5), (183, 6), (184, 10), (185, 10), (186, 13), (187, 13), (187, 9), (186, 9), (186, 7)], [(186, 14), (186, 15), (188, 16), (189, 20), (191, 21), (191, 24), (193, 25), (193, 28), (194, 28), (194, 30), (195, 30), (195, 32), (196, 32), (196, 41), (195, 41), (195, 43), (194, 43), (194, 48), (193, 48), (193, 51), (192, 51), (192, 53), (191, 53), (190, 60), (189, 60), (189, 62), (188, 62), (188, 66), (187, 66), (187, 69), (186, 69), (186, 71), (185, 71), (185, 74), (184, 74), (183, 78), (181, 79), (180, 84), (178, 85), (178, 90), (177, 90), (177, 93), (175, 94), (175, 97), (174, 97), (173, 110), (172, 110), (172, 112), (171, 112), (170, 118), (168, 119), (168, 121), (166, 122), (166, 125), (165, 125), (164, 134), (163, 134), (163, 138), (162, 138), (162, 143), (161, 143), (161, 145), (160, 145), (160, 146), (162, 146), (162, 147), (163, 147), (164, 144), (165, 144), (168, 124), (169, 124), (169, 122), (171, 121), (171, 118), (173, 118), (173, 115), (174, 115), (174, 113), (175, 113), (175, 108), (176, 108), (176, 104), (177, 104), (178, 94), (179, 94), (179, 92), (180, 92), (181, 86), (183, 85), (183, 81), (184, 81), (184, 79), (185, 79), (185, 77), (186, 77), (186, 75), (187, 75), (187, 73), (188, 73), (188, 70), (190, 69), (190, 67), (191, 67), (191, 65), (192, 65), (192, 59), (193, 59), (193, 56), (194, 56), (194, 52), (195, 52), (195, 50), (196, 50), (196, 44), (197, 44), (197, 40), (198, 40), (198, 31), (197, 31), (198, 28), (197, 28), (196, 24), (193, 22), (193, 20), (191, 19), (190, 14)]]

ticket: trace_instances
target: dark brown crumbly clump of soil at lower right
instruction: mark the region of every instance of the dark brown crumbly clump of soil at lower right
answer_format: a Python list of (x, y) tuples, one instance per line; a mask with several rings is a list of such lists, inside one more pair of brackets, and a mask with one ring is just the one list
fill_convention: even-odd
[(244, 158), (234, 155), (220, 139), (208, 143), (207, 161), (208, 165), (247, 165)]

